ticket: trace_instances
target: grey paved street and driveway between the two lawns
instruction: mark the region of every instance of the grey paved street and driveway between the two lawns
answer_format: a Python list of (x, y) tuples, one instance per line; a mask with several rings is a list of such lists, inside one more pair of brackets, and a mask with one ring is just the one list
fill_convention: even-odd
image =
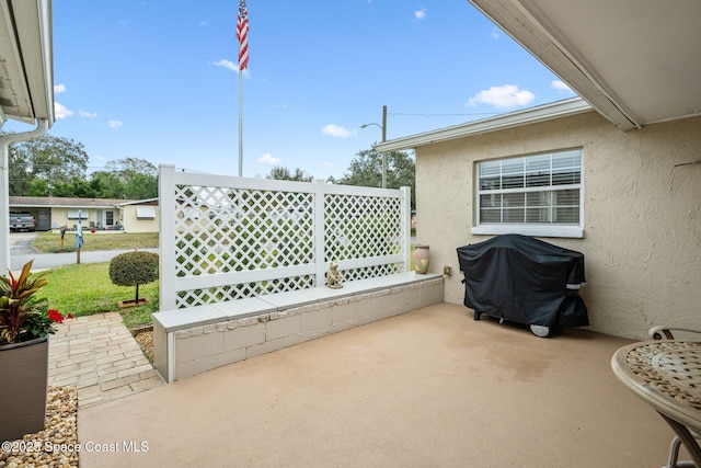
[[(32, 241), (36, 237), (35, 232), (10, 232), (10, 270), (13, 272), (22, 270), (22, 266), (30, 260), (34, 260), (32, 270), (56, 269), (64, 265), (77, 263), (76, 252), (66, 253), (38, 253), (32, 248)], [(141, 249), (158, 253), (158, 249)], [(80, 252), (80, 263), (108, 262), (114, 256), (127, 250), (97, 250)]]

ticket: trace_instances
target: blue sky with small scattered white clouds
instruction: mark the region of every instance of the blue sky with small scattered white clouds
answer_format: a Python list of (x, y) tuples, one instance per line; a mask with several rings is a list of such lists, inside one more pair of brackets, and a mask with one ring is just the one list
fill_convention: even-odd
[[(464, 0), (248, 0), (243, 176), (341, 176), (388, 139), (559, 101), (559, 79)], [(123, 158), (237, 175), (238, 1), (54, 1), (56, 123)], [(7, 124), (21, 132), (26, 126)]]

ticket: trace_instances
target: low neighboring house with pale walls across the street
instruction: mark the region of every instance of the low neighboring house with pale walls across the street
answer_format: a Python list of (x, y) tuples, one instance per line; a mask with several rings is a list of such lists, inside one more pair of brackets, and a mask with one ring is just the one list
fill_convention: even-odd
[(62, 198), (11, 196), (11, 209), (30, 212), (36, 230), (83, 229), (158, 232), (158, 198), (130, 201), (110, 198)]

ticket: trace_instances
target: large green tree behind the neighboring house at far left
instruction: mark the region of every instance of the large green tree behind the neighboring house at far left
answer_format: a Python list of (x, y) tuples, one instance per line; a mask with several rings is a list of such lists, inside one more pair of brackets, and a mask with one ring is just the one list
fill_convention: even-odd
[(10, 146), (10, 195), (30, 195), (32, 181), (46, 181), (49, 195), (59, 183), (85, 179), (88, 153), (81, 142), (44, 135)]

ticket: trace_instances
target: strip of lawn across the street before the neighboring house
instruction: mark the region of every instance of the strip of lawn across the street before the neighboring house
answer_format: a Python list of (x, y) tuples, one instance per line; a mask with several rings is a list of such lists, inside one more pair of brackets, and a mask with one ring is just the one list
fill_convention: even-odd
[[(32, 247), (39, 253), (59, 253), (76, 251), (76, 232), (66, 232), (64, 247), (61, 235), (53, 232), (39, 232), (32, 242)], [(83, 246), (87, 250), (125, 250), (125, 249), (158, 248), (158, 232), (104, 232), (95, 233), (83, 230)]]

